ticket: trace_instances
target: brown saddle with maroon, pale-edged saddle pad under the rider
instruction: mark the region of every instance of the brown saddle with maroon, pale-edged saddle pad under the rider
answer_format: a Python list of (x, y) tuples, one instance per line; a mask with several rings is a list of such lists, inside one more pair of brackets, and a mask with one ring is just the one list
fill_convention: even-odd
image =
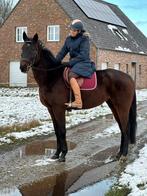
[[(68, 81), (69, 71), (70, 71), (70, 68), (66, 67), (63, 72), (63, 78), (64, 78), (65, 84), (68, 88), (70, 88), (70, 84)], [(79, 84), (80, 90), (88, 90), (89, 91), (89, 90), (94, 90), (97, 87), (96, 72), (94, 72), (92, 74), (91, 78), (79, 77), (76, 80)]]

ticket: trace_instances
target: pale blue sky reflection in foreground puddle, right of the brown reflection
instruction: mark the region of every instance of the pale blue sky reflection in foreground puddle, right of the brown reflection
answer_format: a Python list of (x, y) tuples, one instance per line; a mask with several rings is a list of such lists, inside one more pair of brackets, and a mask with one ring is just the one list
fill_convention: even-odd
[(97, 182), (91, 186), (88, 186), (84, 189), (81, 189), (75, 193), (71, 193), (68, 196), (104, 196), (107, 191), (113, 186), (116, 182), (116, 178), (108, 178)]

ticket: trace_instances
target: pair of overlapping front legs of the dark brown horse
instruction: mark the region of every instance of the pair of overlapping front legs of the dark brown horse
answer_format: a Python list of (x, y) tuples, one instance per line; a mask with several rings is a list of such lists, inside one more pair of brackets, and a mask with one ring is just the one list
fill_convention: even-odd
[(49, 109), (49, 112), (53, 120), (55, 134), (57, 138), (57, 150), (52, 158), (59, 158), (60, 162), (64, 162), (65, 156), (68, 151), (66, 142), (65, 109), (60, 107), (52, 107), (52, 109)]

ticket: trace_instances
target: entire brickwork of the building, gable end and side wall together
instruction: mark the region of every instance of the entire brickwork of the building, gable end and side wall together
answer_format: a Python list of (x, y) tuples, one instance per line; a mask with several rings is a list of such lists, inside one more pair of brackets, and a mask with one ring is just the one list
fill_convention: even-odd
[[(11, 61), (20, 60), (22, 43), (15, 41), (16, 27), (27, 26), (28, 36), (31, 37), (37, 32), (45, 46), (56, 54), (68, 35), (70, 21), (55, 0), (21, 0), (0, 29), (0, 84), (9, 84), (9, 64)], [(47, 42), (47, 26), (56, 24), (60, 25), (61, 41)], [(94, 44), (91, 44), (91, 58), (98, 68), (103, 62), (108, 62), (109, 67), (120, 63), (120, 69), (126, 72), (126, 64), (128, 64), (129, 74), (132, 71), (131, 62), (136, 62), (137, 87), (147, 87), (147, 56), (110, 50), (97, 51)], [(141, 65), (141, 74), (139, 65)], [(35, 84), (31, 71), (28, 74), (28, 84)]]

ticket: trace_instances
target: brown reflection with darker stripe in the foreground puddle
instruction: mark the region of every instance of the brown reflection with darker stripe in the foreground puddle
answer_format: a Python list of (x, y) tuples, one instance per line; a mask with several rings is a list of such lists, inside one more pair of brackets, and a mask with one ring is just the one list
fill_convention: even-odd
[(68, 187), (82, 175), (83, 171), (82, 166), (77, 166), (70, 171), (25, 184), (19, 187), (19, 190), (23, 196), (65, 196)]

